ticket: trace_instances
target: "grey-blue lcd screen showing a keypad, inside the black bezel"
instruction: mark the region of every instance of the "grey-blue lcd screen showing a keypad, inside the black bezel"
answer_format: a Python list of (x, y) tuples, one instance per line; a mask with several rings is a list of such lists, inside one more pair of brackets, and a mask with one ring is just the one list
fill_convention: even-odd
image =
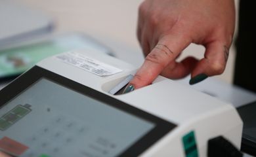
[(118, 156), (155, 126), (42, 78), (1, 108), (0, 150), (20, 156)]

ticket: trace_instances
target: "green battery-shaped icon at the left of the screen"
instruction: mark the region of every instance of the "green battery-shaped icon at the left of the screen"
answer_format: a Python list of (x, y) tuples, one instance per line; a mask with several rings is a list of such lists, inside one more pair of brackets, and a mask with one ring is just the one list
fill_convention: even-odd
[(4, 114), (0, 118), (0, 130), (5, 131), (7, 128), (12, 126), (15, 122), (26, 116), (26, 114), (30, 113), (32, 111), (30, 109), (31, 105), (17, 105), (11, 111)]

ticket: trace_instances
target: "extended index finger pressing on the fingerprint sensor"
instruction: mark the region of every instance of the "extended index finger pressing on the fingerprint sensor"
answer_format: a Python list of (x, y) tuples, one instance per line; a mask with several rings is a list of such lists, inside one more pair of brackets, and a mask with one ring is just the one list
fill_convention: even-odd
[(146, 56), (144, 63), (129, 83), (133, 89), (151, 84), (161, 71), (191, 43), (188, 37), (178, 33), (163, 36)]

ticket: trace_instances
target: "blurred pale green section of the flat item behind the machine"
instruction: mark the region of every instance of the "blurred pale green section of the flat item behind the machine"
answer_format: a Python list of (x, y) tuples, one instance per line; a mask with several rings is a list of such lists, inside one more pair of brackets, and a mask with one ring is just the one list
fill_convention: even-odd
[(60, 44), (49, 41), (0, 50), (0, 77), (23, 73), (42, 59), (67, 49)]

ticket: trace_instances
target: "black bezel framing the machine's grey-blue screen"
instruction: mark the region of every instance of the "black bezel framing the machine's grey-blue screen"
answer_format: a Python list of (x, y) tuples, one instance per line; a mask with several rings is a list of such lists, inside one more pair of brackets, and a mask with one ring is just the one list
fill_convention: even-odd
[(21, 94), (24, 90), (30, 88), (30, 86), (32, 86), (40, 79), (51, 80), (54, 83), (60, 84), (61, 86), (73, 90), (74, 92), (78, 92), (84, 96), (91, 97), (97, 101), (105, 103), (106, 105), (110, 105), (111, 107), (115, 107), (116, 109), (124, 111), (125, 113), (137, 116), (138, 118), (142, 118), (155, 124), (155, 127), (152, 130), (148, 131), (148, 133), (140, 137), (140, 139), (131, 145), (131, 147), (121, 152), (121, 154), (118, 156), (139, 156), (147, 148), (154, 145), (156, 141), (161, 139), (161, 137), (166, 135), (169, 131), (173, 130), (177, 126), (176, 124), (163, 120), (152, 114), (146, 113), (145, 111), (137, 109), (136, 107), (124, 103), (123, 101), (119, 101), (114, 97), (98, 92), (83, 84), (79, 84), (78, 82), (74, 82), (73, 80), (67, 79), (61, 75), (38, 66), (32, 67), (32, 69), (23, 75), (20, 75), (20, 77), (12, 81), (11, 84), (0, 91), (0, 109), (9, 101), (14, 99), (14, 97)]

